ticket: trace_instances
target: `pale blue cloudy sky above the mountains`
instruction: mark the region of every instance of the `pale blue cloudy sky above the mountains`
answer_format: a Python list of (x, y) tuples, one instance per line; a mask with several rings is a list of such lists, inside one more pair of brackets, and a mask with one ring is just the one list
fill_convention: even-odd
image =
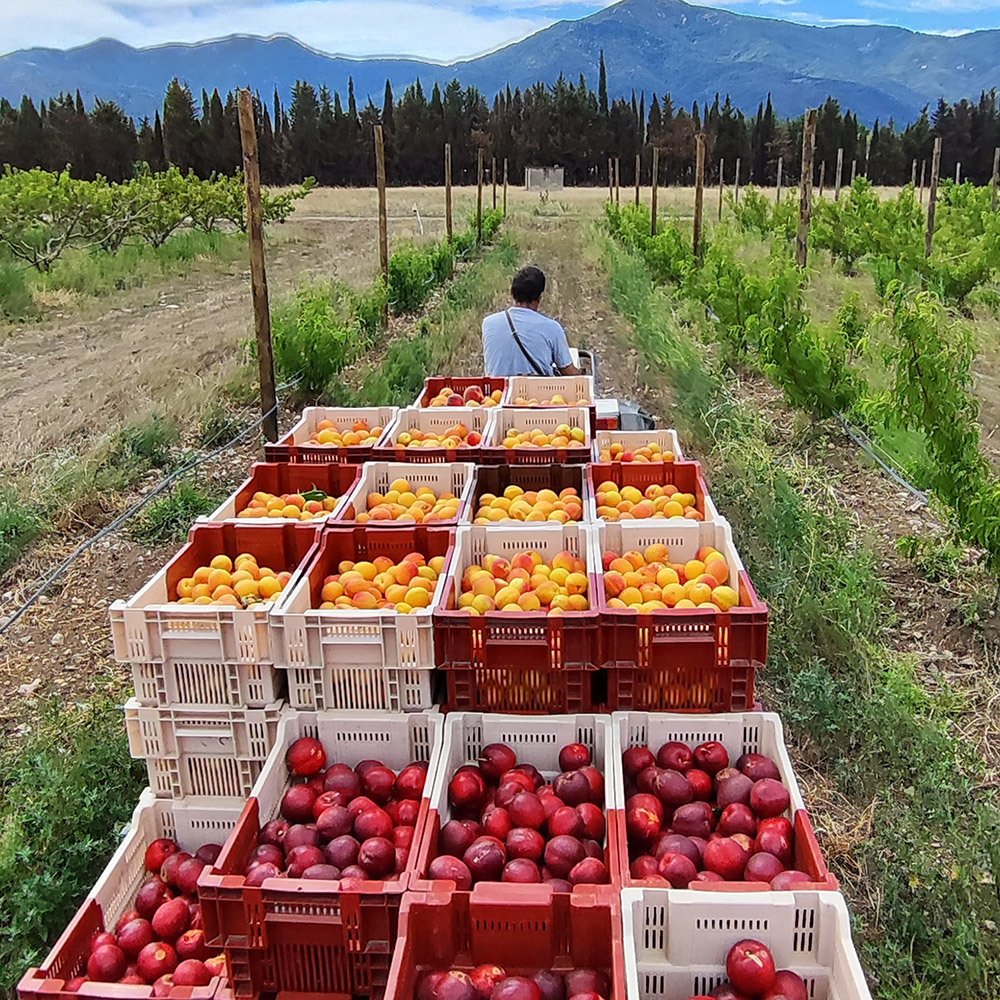
[[(599, 0), (2, 0), (0, 46), (67, 48), (102, 36), (158, 45), (234, 31), (280, 32), (327, 52), (450, 60), (606, 6)], [(817, 25), (896, 24), (946, 34), (1000, 27), (1000, 0), (717, 0), (701, 6)]]

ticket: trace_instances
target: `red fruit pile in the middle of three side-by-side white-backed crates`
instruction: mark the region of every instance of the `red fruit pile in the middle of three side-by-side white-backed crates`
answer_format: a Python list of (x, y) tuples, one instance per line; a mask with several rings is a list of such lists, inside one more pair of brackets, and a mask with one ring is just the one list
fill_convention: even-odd
[(483, 747), (479, 763), (460, 767), (448, 784), (452, 819), (441, 828), (429, 877), (459, 890), (476, 882), (547, 882), (569, 892), (610, 882), (604, 777), (581, 743), (559, 751), (559, 767), (562, 774), (547, 783), (506, 744)]

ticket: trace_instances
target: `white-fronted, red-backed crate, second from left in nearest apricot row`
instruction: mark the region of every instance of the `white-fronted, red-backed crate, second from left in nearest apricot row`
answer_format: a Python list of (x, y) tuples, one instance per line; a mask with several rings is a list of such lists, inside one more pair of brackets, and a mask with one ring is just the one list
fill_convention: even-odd
[[(388, 556), (399, 562), (417, 551), (443, 556), (444, 571), (431, 604), (410, 614), (390, 609), (323, 611), (320, 593), (344, 559)], [(424, 525), (396, 528), (331, 526), (316, 556), (273, 615), (274, 655), (288, 675), (293, 708), (413, 712), (434, 704), (433, 613), (447, 588), (453, 535)]]

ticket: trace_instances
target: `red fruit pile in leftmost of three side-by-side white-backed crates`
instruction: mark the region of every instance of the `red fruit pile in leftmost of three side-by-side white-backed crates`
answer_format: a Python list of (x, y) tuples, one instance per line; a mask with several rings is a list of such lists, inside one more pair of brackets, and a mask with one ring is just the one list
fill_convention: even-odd
[(288, 770), (305, 780), (281, 800), (246, 867), (246, 884), (269, 878), (340, 880), (355, 889), (368, 879), (393, 879), (406, 868), (427, 778), (426, 762), (399, 774), (381, 761), (326, 766), (323, 744), (297, 739)]

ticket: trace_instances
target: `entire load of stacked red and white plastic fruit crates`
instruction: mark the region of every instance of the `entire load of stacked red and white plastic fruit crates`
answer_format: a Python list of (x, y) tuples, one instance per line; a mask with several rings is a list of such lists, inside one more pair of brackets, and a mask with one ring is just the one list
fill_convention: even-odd
[[(572, 439), (560, 430), (557, 445), (514, 443), (515, 434), (554, 435), (562, 425), (575, 429)], [(674, 431), (619, 430), (615, 401), (597, 399), (583, 376), (434, 377), (404, 409), (311, 407), (265, 457), (167, 566), (112, 607), (115, 652), (135, 681), (130, 746), (147, 762), (150, 788), (67, 931), (22, 979), (21, 1000), (440, 1000), (426, 973), (484, 964), (509, 975), (593, 970), (586, 989), (567, 980), (564, 1000), (589, 989), (602, 1000), (688, 1000), (726, 981), (726, 955), (748, 937), (803, 979), (809, 1000), (870, 1000), (780, 719), (755, 703), (767, 607)], [(404, 480), (398, 499), (427, 488), (453, 498), (447, 512), (394, 507), (387, 495)], [(642, 496), (672, 487), (690, 495), (692, 509), (630, 516), (627, 504), (598, 502), (609, 483)], [(518, 490), (550, 490), (561, 506), (539, 508), (542, 520), (493, 508)], [(517, 516), (527, 517), (523, 508)], [(657, 561), (674, 565), (720, 553), (738, 603), (621, 606), (612, 560), (653, 546)], [(470, 566), (528, 552), (582, 560), (588, 606), (558, 615), (462, 606)], [(198, 567), (217, 556), (235, 567), (242, 553), (285, 574), (273, 600), (177, 603), (178, 584)], [(412, 553), (440, 570), (426, 607), (329, 606), (326, 581), (345, 563), (395, 567)], [(426, 763), (419, 799), (405, 809), (383, 803), (413, 822), (392, 874), (248, 879), (289, 789), (326, 787), (325, 778), (291, 773), (286, 755), (302, 737), (320, 741), (325, 767), (362, 773), (378, 761), (398, 773)], [(747, 754), (774, 762), (788, 791), (783, 865), (801, 873), (791, 889), (719, 880), (672, 888), (649, 874), (639, 858), (655, 848), (630, 828), (637, 777), (623, 755), (637, 747), (655, 755), (671, 741), (717, 741), (734, 766)], [(547, 784), (562, 771), (561, 748), (586, 748), (603, 784), (588, 850), (604, 862), (605, 884), (462, 889), (432, 869), (447, 853), (446, 825), (480, 818), (452, 801), (449, 783), (478, 767), (491, 743), (506, 744)], [(150, 875), (146, 848), (162, 837), (191, 853), (220, 845), (198, 880), (198, 921), (224, 970), (196, 988), (74, 982), (94, 935), (131, 907)]]

